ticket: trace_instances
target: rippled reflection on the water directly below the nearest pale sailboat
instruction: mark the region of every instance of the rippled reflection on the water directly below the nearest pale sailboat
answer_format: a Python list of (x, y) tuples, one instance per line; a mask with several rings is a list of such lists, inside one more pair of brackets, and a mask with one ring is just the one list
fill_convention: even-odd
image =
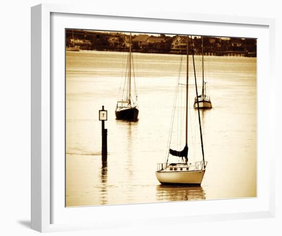
[(201, 186), (157, 185), (156, 199), (157, 201), (205, 200), (206, 193)]

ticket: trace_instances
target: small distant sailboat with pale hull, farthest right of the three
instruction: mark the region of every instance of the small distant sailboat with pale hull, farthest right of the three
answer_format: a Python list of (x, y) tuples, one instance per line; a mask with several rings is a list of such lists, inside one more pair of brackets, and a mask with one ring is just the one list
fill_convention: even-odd
[[(207, 82), (204, 80), (204, 37), (202, 36), (202, 77), (203, 77), (203, 84), (202, 84), (202, 94), (195, 97), (194, 100), (194, 108), (196, 109), (199, 104), (199, 108), (205, 109), (205, 108), (212, 108), (211, 98), (209, 95), (207, 95)], [(198, 103), (197, 103), (198, 100)]]

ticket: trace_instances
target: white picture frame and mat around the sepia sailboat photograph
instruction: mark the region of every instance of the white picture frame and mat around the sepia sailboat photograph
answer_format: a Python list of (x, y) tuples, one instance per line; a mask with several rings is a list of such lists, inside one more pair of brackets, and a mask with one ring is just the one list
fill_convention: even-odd
[[(273, 148), (275, 135), (274, 129), (272, 129), (274, 124), (274, 107), (270, 101), (270, 87), (274, 84), (274, 19), (175, 12), (140, 13), (132, 11), (127, 12), (126, 10), (125, 12), (106, 12), (99, 11), (97, 7), (53, 4), (42, 4), (33, 7), (31, 10), (31, 17), (32, 229), (48, 232), (109, 228), (126, 226), (129, 223), (136, 225), (166, 225), (168, 223), (175, 224), (195, 221), (274, 217), (275, 172), (274, 168), (271, 167), (273, 165), (275, 166), (275, 152)], [(67, 17), (70, 22), (68, 23), (68, 27), (64, 25), (64, 17)], [(62, 156), (63, 161), (61, 160), (61, 163), (58, 163), (58, 165), (56, 165), (51, 158), (54, 154), (53, 148), (56, 146), (52, 146), (52, 144), (56, 144), (56, 141), (54, 141), (54, 134), (52, 134), (52, 126), (57, 125), (52, 122), (54, 121), (52, 119), (57, 119), (58, 117), (57, 115), (52, 115), (52, 112), (56, 113), (56, 111), (59, 111), (60, 109), (59, 105), (58, 107), (53, 107), (52, 101), (54, 100), (54, 97), (62, 99), (65, 95), (59, 95), (56, 88), (56, 86), (62, 86), (62, 83), (65, 81), (59, 82), (61, 83), (61, 85), (59, 85), (56, 84), (56, 82), (53, 83), (54, 81), (51, 80), (52, 76), (57, 76), (56, 73), (61, 73), (64, 70), (64, 68), (63, 70), (61, 70), (62, 68), (56, 71), (52, 70), (52, 60), (54, 59), (54, 55), (52, 55), (52, 47), (56, 47), (52, 45), (52, 43), (57, 41), (54, 41), (51, 34), (53, 30), (59, 31), (62, 28), (71, 28), (71, 23), (74, 22), (72, 21), (72, 18), (74, 19), (74, 17), (78, 18), (75, 18), (75, 23), (73, 23), (72, 28), (81, 27), (79, 26), (80, 23), (82, 25), (87, 25), (91, 20), (91, 17), (96, 17), (96, 22), (99, 22), (98, 19), (102, 19), (105, 23), (108, 19), (109, 22), (118, 20), (126, 23), (126, 26), (119, 26), (120, 30), (139, 32), (149, 30), (149, 32), (153, 32), (153, 26), (151, 29), (148, 29), (148, 23), (154, 22), (154, 24), (151, 25), (158, 25), (159, 27), (162, 27), (163, 23), (166, 23), (167, 25), (190, 24), (189, 26), (192, 29), (191, 34), (195, 35), (200, 33), (200, 31), (197, 31), (198, 28), (201, 28), (200, 26), (207, 25), (209, 25), (209, 27), (206, 27), (204, 32), (206, 35), (219, 35), (220, 30), (217, 33), (214, 33), (219, 26), (223, 27), (221, 28), (221, 32), (225, 29), (226, 32), (229, 32), (229, 36), (247, 37), (251, 35), (259, 35), (257, 50), (257, 198), (198, 201), (189, 203), (190, 211), (182, 213), (178, 213), (179, 211), (173, 213), (171, 211), (164, 212), (163, 208), (165, 206), (164, 204), (169, 204), (167, 206), (173, 206), (174, 209), (181, 209), (184, 206), (183, 204), (185, 204), (183, 202), (69, 208), (66, 213), (64, 199), (62, 200), (61, 198), (64, 193), (62, 185), (64, 184), (65, 173), (64, 169), (58, 168), (59, 166), (62, 167), (64, 164), (64, 156)], [(107, 25), (101, 27), (104, 27), (106, 30), (106, 26)], [(91, 25), (86, 27), (89, 29)], [(116, 25), (113, 25), (112, 27), (113, 28), (107, 28), (107, 30), (117, 29)], [(228, 27), (233, 27), (235, 29), (233, 30), (233, 34), (230, 29), (228, 31)], [(238, 32), (236, 27), (241, 27), (241, 31)], [(212, 32), (211, 30), (214, 31)], [(180, 27), (178, 28), (178, 31), (179, 33), (186, 32), (185, 30), (181, 31)], [(61, 33), (64, 34), (65, 32)], [(170, 31), (169, 33), (173, 32)], [(63, 39), (58, 47), (62, 47), (64, 44), (65, 42)], [(58, 50), (58, 53), (64, 53), (64, 51)], [(61, 66), (63, 65), (64, 64)], [(263, 68), (262, 65), (264, 65)], [(268, 79), (264, 80), (263, 78), (265, 77)], [(264, 100), (261, 99), (262, 97), (264, 97)], [(57, 134), (58, 136), (64, 135), (63, 130), (58, 129)], [(266, 150), (266, 147), (264, 146), (270, 148)], [(266, 160), (263, 164), (261, 163), (262, 157), (265, 157)], [(58, 184), (54, 184), (54, 175), (59, 179)], [(261, 183), (263, 183), (264, 186), (262, 186)], [(56, 198), (54, 198), (54, 194), (56, 194)], [(61, 200), (57, 201), (57, 199)], [(212, 207), (213, 205), (214, 207)], [(195, 209), (199, 208), (201, 209), (201, 212), (196, 214)], [(117, 220), (115, 212), (120, 212), (120, 210), (124, 213)], [(152, 210), (150, 217), (147, 214), (148, 210)], [(132, 212), (137, 212), (137, 214), (132, 214)], [(111, 218), (107, 217), (109, 214), (112, 215)], [(127, 217), (127, 214), (130, 214), (130, 218)], [(82, 221), (76, 221), (75, 216), (77, 219), (82, 219)], [(64, 222), (60, 221), (60, 219), (63, 218), (65, 219)], [(84, 218), (90, 218), (91, 221), (84, 221)]]

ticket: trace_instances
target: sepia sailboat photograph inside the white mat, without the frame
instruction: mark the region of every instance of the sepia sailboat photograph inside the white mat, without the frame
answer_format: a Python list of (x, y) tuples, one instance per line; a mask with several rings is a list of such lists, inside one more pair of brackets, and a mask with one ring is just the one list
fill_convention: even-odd
[(257, 196), (256, 38), (65, 29), (66, 207)]

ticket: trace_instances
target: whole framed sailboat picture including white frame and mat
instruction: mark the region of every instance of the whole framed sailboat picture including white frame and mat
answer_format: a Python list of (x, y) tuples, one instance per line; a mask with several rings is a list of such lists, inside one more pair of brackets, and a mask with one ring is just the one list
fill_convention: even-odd
[(274, 217), (274, 20), (90, 9), (32, 8), (32, 228)]

